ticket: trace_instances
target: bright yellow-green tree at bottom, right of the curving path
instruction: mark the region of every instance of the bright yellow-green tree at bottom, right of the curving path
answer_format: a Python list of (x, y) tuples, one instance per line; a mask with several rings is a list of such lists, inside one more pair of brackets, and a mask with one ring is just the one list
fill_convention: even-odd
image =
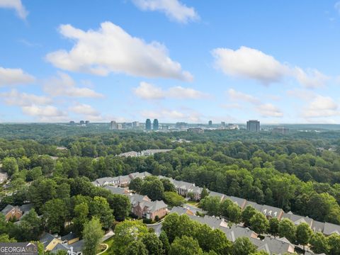
[(132, 242), (147, 233), (149, 233), (147, 227), (140, 220), (120, 222), (115, 226), (113, 251), (115, 254), (125, 254), (125, 250)]

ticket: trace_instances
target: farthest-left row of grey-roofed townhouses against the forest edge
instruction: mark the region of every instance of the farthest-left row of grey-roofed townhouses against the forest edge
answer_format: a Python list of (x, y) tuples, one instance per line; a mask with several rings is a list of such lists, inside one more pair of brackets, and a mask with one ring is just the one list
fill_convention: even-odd
[(116, 186), (116, 187), (126, 187), (129, 185), (130, 181), (140, 177), (140, 179), (144, 179), (146, 176), (150, 176), (148, 172), (143, 173), (132, 173), (125, 176), (115, 176), (115, 177), (103, 177), (96, 179), (96, 181), (92, 181), (94, 186)]

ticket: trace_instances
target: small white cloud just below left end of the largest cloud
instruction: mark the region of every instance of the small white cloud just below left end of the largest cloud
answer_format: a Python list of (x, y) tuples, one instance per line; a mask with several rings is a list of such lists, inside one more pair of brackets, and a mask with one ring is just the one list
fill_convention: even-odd
[(102, 94), (89, 88), (79, 88), (75, 81), (68, 74), (58, 72), (57, 77), (45, 81), (43, 90), (50, 96), (70, 96), (70, 97), (87, 97), (101, 98)]

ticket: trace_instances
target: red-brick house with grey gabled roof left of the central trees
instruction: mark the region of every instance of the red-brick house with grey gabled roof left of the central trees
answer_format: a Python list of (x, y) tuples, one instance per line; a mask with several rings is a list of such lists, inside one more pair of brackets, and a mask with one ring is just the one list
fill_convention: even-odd
[(167, 205), (163, 200), (152, 201), (147, 196), (130, 194), (131, 212), (138, 217), (155, 220), (156, 216), (164, 217), (167, 212)]

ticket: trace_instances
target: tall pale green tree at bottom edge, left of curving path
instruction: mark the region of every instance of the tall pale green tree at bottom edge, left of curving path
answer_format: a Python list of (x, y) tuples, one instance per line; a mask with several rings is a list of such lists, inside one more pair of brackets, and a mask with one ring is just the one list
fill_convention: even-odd
[(101, 243), (104, 232), (101, 229), (101, 221), (93, 217), (92, 220), (84, 224), (83, 239), (84, 239), (84, 255), (97, 254), (98, 245)]

